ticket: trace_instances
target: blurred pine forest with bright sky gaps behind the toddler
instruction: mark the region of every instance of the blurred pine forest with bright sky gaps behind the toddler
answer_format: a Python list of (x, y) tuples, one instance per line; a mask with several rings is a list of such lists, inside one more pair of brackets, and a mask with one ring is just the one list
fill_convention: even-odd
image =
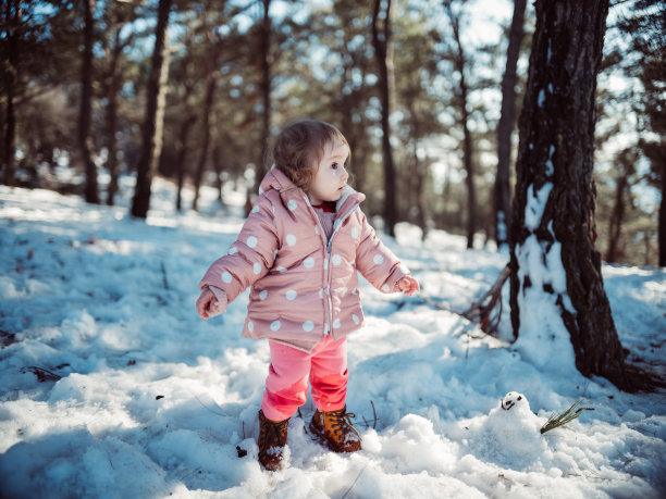
[[(406, 221), (506, 242), (535, 23), (523, 0), (2, 0), (0, 15), (7, 185), (113, 204), (136, 174), (145, 217), (157, 174), (178, 211), (203, 184), (251, 205), (268, 145), (312, 117), (348, 138), (353, 185), (388, 234)], [(594, 157), (607, 262), (666, 264), (664, 17), (656, 1), (610, 3)]]

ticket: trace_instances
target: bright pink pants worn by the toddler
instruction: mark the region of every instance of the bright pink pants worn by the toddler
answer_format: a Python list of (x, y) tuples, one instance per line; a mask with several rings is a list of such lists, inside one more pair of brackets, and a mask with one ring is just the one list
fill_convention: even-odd
[(320, 411), (337, 411), (345, 407), (347, 395), (347, 340), (326, 336), (310, 352), (270, 341), (271, 365), (261, 400), (263, 414), (273, 421), (294, 415), (308, 395), (308, 377), (312, 401)]

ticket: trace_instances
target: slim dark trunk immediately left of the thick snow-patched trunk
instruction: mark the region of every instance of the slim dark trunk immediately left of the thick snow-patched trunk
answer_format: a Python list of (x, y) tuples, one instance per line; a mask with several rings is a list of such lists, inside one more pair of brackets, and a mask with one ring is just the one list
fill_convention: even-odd
[(497, 248), (508, 244), (510, 227), (511, 134), (516, 110), (516, 68), (523, 36), (525, 8), (527, 0), (514, 0), (514, 18), (506, 51), (506, 68), (502, 78), (502, 111), (497, 124), (497, 176), (495, 177), (495, 241)]

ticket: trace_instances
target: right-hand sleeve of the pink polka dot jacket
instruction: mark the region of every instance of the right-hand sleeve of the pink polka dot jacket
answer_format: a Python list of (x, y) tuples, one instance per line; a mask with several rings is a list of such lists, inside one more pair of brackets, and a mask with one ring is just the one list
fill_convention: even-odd
[(360, 242), (356, 248), (356, 269), (363, 277), (383, 292), (395, 292), (396, 284), (409, 271), (398, 258), (379, 240), (374, 228), (360, 212)]

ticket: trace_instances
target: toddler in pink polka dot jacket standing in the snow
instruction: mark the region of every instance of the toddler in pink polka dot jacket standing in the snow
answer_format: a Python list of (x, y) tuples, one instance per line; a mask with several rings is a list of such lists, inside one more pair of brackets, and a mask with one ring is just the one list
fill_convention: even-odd
[(360, 449), (346, 412), (347, 334), (363, 325), (359, 271), (383, 292), (419, 285), (377, 238), (347, 185), (349, 146), (334, 126), (293, 122), (229, 253), (199, 283), (197, 312), (218, 315), (251, 286), (243, 336), (269, 338), (271, 363), (259, 411), (259, 461), (284, 466), (287, 422), (306, 402), (310, 431), (336, 452)]

